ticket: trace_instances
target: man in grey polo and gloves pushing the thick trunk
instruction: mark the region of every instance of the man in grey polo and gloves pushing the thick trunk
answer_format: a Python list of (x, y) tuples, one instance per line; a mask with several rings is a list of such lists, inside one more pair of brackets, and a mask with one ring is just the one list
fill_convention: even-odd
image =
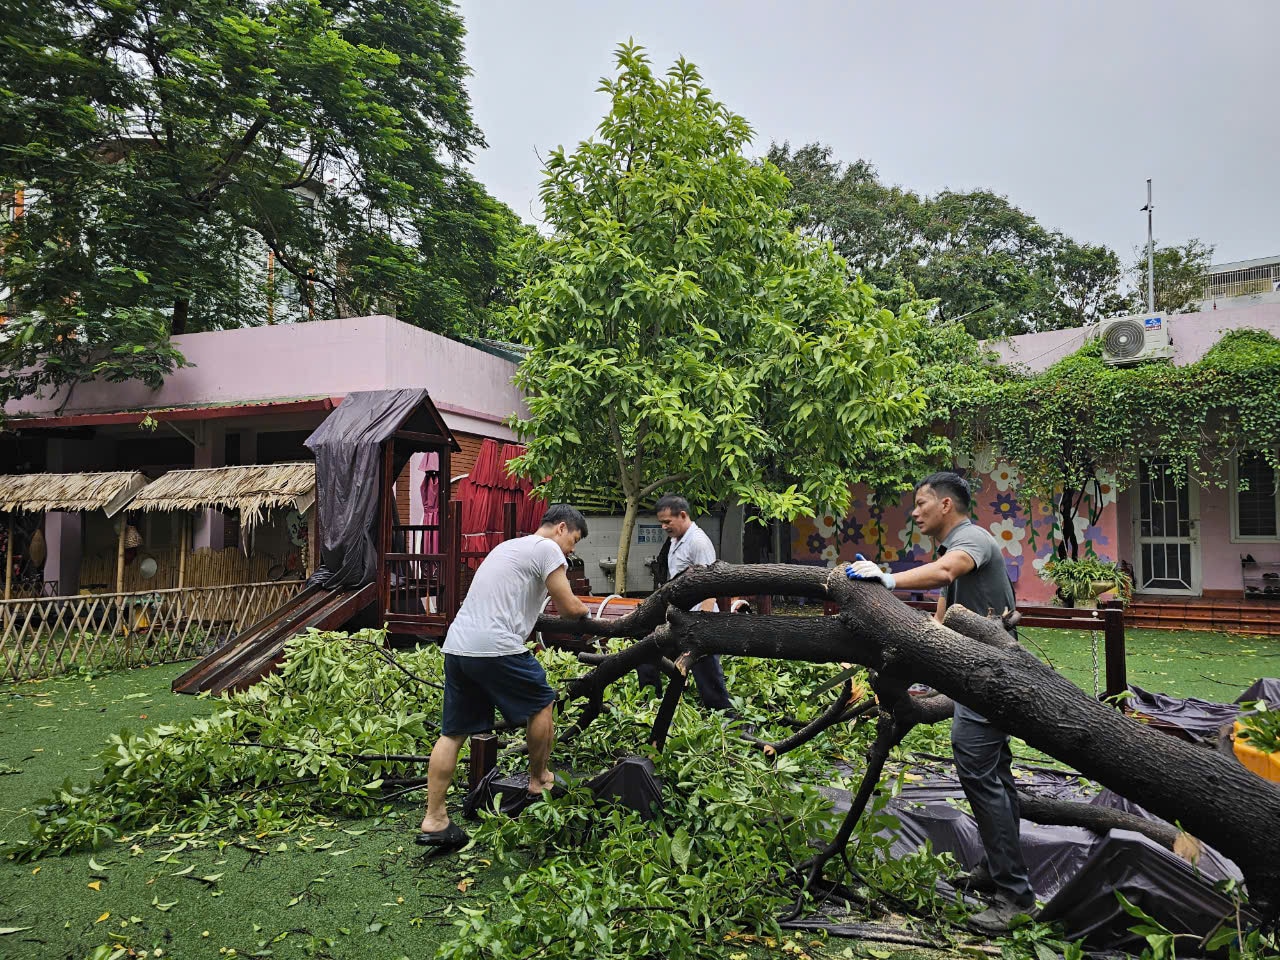
[[(1014, 609), (1014, 588), (1009, 582), (996, 538), (969, 520), (969, 484), (954, 472), (933, 474), (915, 488), (911, 517), (920, 532), (938, 544), (938, 559), (901, 573), (883, 573), (870, 561), (846, 567), (852, 580), (879, 580), (890, 590), (931, 590), (945, 588), (947, 605), (963, 604), (975, 613), (1001, 614)], [(963, 886), (993, 892), (991, 909), (969, 918), (978, 929), (1000, 933), (1014, 916), (1036, 906), (1023, 860), (1019, 837), (1020, 810), (1011, 771), (1009, 735), (982, 714), (963, 704), (955, 705), (951, 722), (951, 750), (956, 776), (973, 808), (978, 833), (987, 852)]]

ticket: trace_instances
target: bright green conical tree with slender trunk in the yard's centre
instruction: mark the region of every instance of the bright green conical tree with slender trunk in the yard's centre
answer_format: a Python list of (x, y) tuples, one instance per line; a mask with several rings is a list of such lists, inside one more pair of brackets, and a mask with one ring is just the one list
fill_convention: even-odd
[(595, 137), (548, 160), (552, 233), (530, 251), (515, 325), (531, 347), (517, 468), (552, 497), (617, 492), (622, 591), (646, 498), (678, 486), (762, 517), (844, 511), (855, 472), (897, 468), (890, 440), (923, 398), (904, 349), (914, 308), (877, 306), (829, 244), (790, 227), (786, 178), (744, 156), (746, 122), (687, 61), (659, 77), (623, 45), (617, 64)]

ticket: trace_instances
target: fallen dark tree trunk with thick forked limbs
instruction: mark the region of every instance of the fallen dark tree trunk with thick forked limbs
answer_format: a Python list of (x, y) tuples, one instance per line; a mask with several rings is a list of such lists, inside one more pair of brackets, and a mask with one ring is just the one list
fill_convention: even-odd
[[(832, 600), (840, 613), (799, 618), (686, 612), (709, 596), (758, 593)], [(1234, 758), (1153, 731), (1100, 703), (1024, 650), (998, 618), (952, 607), (938, 623), (878, 584), (850, 581), (838, 571), (717, 563), (686, 572), (617, 621), (544, 618), (539, 628), (643, 637), (618, 653), (593, 657), (593, 669), (570, 684), (571, 699), (589, 704), (602, 703), (605, 687), (637, 663), (666, 659), (687, 673), (694, 660), (709, 654), (854, 662), (876, 671), (877, 692), (895, 698), (887, 703), (881, 695), (882, 710), (899, 718), (899, 728), (878, 737), (888, 744), (900, 740), (901, 723), (928, 722), (928, 710), (901, 703), (908, 685), (928, 684), (1231, 858), (1254, 906), (1276, 918), (1280, 787)], [(659, 721), (667, 714), (669, 723), (673, 701), (663, 708)], [(660, 745), (664, 737), (659, 722), (653, 740)]]

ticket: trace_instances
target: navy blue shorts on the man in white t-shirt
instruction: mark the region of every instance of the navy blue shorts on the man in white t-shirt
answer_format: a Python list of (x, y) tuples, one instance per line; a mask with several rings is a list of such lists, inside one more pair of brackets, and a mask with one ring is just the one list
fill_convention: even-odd
[(494, 707), (508, 723), (518, 724), (554, 701), (547, 671), (527, 650), (508, 657), (444, 654), (444, 736), (493, 730)]

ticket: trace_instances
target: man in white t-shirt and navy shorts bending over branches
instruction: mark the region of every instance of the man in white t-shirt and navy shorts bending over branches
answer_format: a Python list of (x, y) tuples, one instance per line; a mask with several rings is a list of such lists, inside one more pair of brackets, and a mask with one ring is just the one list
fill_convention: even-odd
[(564, 572), (564, 558), (584, 536), (582, 515), (557, 503), (543, 515), (536, 534), (498, 544), (480, 563), (444, 640), (444, 719), (426, 769), (426, 815), (419, 844), (438, 850), (466, 845), (466, 832), (449, 822), (444, 796), (463, 741), (493, 730), (495, 707), (508, 723), (526, 724), (529, 792), (541, 795), (554, 783), (547, 758), (556, 692), (525, 640), (548, 594), (561, 617), (586, 616), (586, 604), (573, 595)]

